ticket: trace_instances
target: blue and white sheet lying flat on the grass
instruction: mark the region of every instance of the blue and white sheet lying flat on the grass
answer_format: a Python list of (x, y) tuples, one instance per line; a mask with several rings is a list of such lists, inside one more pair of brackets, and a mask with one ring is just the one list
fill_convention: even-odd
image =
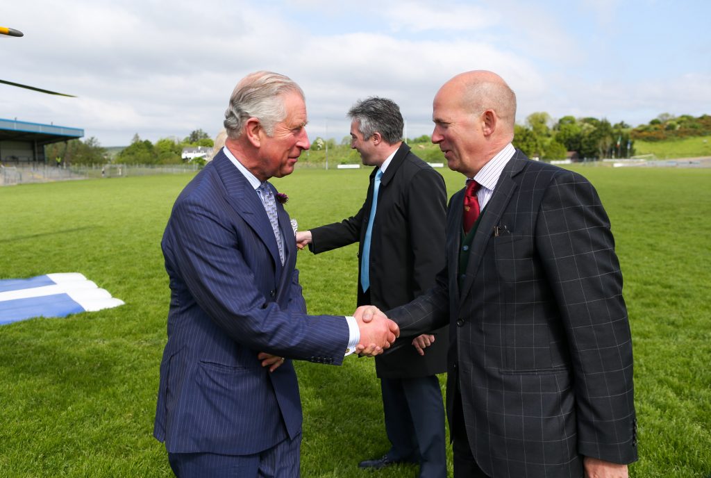
[(0, 325), (32, 317), (65, 317), (123, 304), (76, 272), (0, 280)]

